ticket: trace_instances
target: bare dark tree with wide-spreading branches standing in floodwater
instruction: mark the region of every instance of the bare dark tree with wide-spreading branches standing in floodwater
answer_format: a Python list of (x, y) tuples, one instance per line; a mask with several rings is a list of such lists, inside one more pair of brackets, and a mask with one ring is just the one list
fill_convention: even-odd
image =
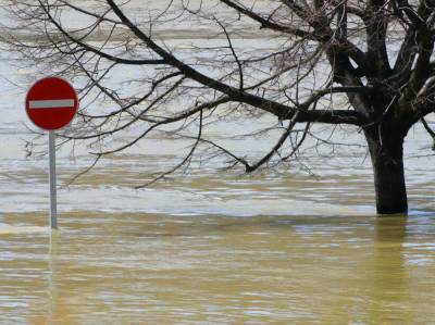
[[(86, 79), (84, 100), (117, 105), (101, 114), (83, 110), (86, 132), (73, 129), (65, 137), (100, 141), (147, 126), (99, 158), (161, 127), (177, 130), (196, 123), (191, 149), (167, 173), (188, 164), (200, 145), (252, 172), (272, 157), (294, 155), (313, 123), (351, 125), (366, 139), (377, 212), (407, 212), (403, 140), (435, 108), (435, 1), (167, 0), (164, 9), (147, 12), (129, 10), (128, 2), (9, 1), (16, 25), (8, 41), (15, 50), (58, 74)], [(184, 26), (192, 37), (200, 33), (195, 26), (212, 26), (225, 43), (171, 47), (160, 39), (162, 25)], [(254, 53), (234, 45), (253, 28), (276, 36), (274, 48)], [(128, 92), (109, 76), (132, 66), (136, 74), (126, 77), (134, 89)], [(272, 114), (285, 126), (270, 152), (249, 162), (203, 137), (207, 118), (217, 112)], [(285, 152), (297, 124), (304, 126), (302, 135)]]

